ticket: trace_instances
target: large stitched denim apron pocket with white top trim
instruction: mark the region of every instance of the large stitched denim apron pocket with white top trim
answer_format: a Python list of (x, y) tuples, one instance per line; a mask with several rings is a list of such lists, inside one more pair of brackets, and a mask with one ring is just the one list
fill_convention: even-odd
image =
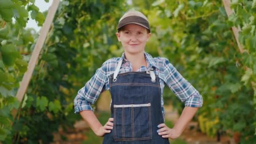
[(115, 141), (152, 139), (151, 104), (114, 105)]

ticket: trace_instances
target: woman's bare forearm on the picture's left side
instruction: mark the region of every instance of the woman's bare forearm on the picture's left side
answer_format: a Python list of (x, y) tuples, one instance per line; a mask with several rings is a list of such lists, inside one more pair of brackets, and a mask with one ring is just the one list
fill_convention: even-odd
[(88, 123), (89, 127), (93, 130), (94, 133), (97, 133), (97, 130), (102, 127), (96, 115), (91, 110), (84, 110), (79, 112), (83, 119)]

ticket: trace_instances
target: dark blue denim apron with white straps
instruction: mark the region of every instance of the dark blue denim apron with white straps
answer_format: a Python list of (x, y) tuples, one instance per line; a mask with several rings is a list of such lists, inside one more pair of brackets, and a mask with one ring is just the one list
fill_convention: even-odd
[(157, 133), (157, 125), (164, 119), (160, 83), (154, 69), (118, 75), (122, 61), (109, 77), (114, 125), (104, 135), (103, 144), (169, 144), (168, 138)]

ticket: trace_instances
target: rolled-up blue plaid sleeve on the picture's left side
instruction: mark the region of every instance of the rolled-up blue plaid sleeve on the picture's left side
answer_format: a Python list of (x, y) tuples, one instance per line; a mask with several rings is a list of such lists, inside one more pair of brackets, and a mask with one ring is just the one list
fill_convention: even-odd
[(92, 110), (94, 104), (102, 91), (105, 90), (107, 81), (106, 72), (103, 67), (96, 70), (95, 75), (81, 88), (74, 99), (75, 113), (83, 110)]

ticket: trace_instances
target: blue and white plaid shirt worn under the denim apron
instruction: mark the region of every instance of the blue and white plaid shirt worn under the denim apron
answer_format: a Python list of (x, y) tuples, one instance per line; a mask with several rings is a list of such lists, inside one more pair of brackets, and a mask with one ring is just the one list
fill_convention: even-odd
[[(161, 105), (162, 105), (162, 114), (164, 116), (163, 108), (163, 88), (168, 85), (173, 93), (185, 103), (187, 107), (202, 107), (203, 98), (198, 93), (198, 91), (187, 81), (181, 74), (176, 70), (168, 59), (162, 57), (152, 58), (148, 53), (144, 53), (148, 67), (142, 66), (137, 71), (145, 72), (149, 68), (155, 67), (154, 71), (156, 75), (160, 78), (160, 87), (161, 87)], [(122, 54), (123, 63), (120, 68), (119, 73), (131, 72), (132, 66), (131, 62), (125, 59), (124, 53)], [(117, 63), (120, 58), (112, 58), (105, 61), (102, 66), (96, 70), (95, 75), (81, 88), (77, 96), (75, 97), (75, 113), (78, 113), (83, 110), (93, 110), (91, 104), (94, 104), (98, 99), (101, 92), (109, 90), (109, 75), (112, 75), (115, 72)]]

